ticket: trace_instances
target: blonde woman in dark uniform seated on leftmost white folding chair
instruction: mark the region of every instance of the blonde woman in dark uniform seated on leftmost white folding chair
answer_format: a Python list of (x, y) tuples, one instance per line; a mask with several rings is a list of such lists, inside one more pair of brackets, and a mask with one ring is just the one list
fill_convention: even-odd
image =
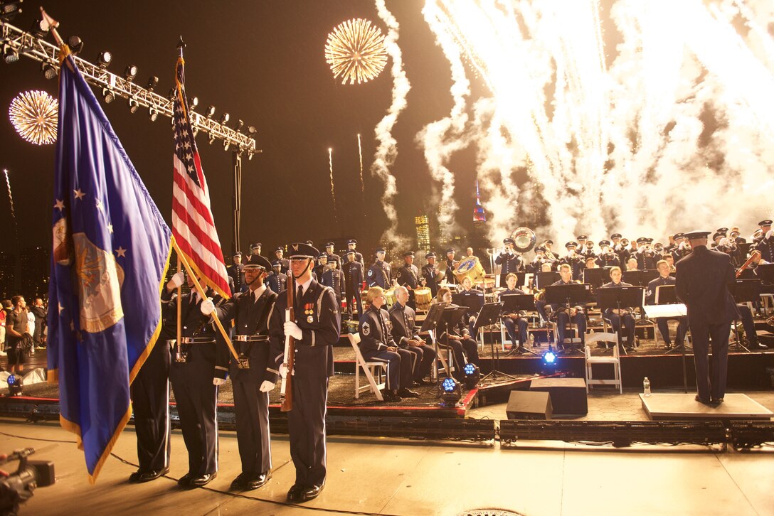
[(409, 391), (413, 384), (413, 361), (415, 355), (401, 349), (389, 333), (389, 313), (385, 305), (385, 291), (382, 287), (371, 287), (366, 295), (368, 309), (360, 318), (360, 352), (366, 361), (387, 363), (387, 381), (382, 391), (385, 402), (400, 402), (402, 398), (419, 398)]

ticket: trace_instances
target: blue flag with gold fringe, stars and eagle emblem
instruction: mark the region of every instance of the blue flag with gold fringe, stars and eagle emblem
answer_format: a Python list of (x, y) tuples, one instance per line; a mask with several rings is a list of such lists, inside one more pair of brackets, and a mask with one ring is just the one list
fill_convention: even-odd
[(64, 57), (54, 170), (49, 381), (93, 484), (132, 408), (129, 384), (161, 330), (170, 228), (97, 98)]

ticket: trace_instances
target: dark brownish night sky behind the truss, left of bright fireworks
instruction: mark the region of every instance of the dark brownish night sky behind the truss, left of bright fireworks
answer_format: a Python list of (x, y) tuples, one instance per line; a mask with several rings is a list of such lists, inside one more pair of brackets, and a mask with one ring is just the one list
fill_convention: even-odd
[[(37, 5), (25, 2), (25, 12), (11, 23), (28, 29)], [(399, 194), (399, 231), (413, 236), (413, 217), (434, 210), (432, 180), (414, 138), (427, 123), (443, 118), (451, 108), (450, 70), (421, 14), (423, 2), (387, 2), (400, 24), (399, 46), (412, 89), (409, 108), (398, 119), (393, 135), (399, 155), (392, 173)], [(209, 104), (215, 118), (226, 111), (229, 125), (241, 118), (258, 129), (262, 154), (243, 160), (242, 251), (262, 241), (264, 254), (278, 244), (354, 235), (361, 248), (377, 243), (387, 219), (379, 201), (382, 185), (369, 172), (375, 152), (374, 127), (391, 101), (389, 67), (372, 82), (341, 85), (324, 60), (327, 34), (350, 18), (366, 18), (386, 33), (373, 2), (304, 0), (300, 2), (51, 2), (45, 5), (60, 21), (63, 38), (84, 40), (86, 60), (96, 63), (102, 50), (113, 53), (109, 70), (121, 74), (126, 65), (139, 67), (136, 82), (160, 78), (156, 91), (173, 85), (176, 42), (187, 43), (187, 94), (199, 97), (200, 111)], [(53, 37), (48, 40), (53, 43)], [(40, 65), (22, 57), (0, 63), (0, 106), (7, 113), (20, 91), (40, 89), (57, 96), (57, 81), (46, 80)], [(473, 83), (474, 92), (481, 84)], [(99, 95), (98, 95), (99, 97)], [(172, 129), (169, 119), (152, 122), (145, 110), (130, 114), (117, 98), (102, 106), (129, 157), (167, 222), (172, 195)], [(365, 203), (359, 185), (358, 141), (361, 134)], [(16, 134), (7, 115), (0, 121), (0, 167), (10, 171), (20, 244), (50, 245), (53, 205), (54, 146), (39, 147)], [(231, 152), (207, 135), (197, 137), (204, 173), (210, 186), (221, 244), (230, 251)], [(330, 199), (328, 148), (334, 149), (334, 182), (339, 224), (334, 224)], [(471, 225), (474, 205), (474, 157), (459, 152), (450, 162), (457, 177), (460, 222)], [(0, 195), (0, 217), (8, 220), (8, 196)], [(0, 237), (0, 249), (12, 251)]]

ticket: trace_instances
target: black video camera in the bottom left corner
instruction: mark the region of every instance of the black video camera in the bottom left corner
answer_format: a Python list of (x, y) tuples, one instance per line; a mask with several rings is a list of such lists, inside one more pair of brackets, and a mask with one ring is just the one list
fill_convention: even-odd
[(17, 514), (19, 504), (33, 496), (36, 487), (46, 487), (54, 483), (53, 462), (47, 460), (29, 460), (35, 453), (34, 448), (17, 449), (0, 459), (0, 466), (12, 460), (19, 461), (19, 468), (8, 477), (0, 477), (0, 515)]

